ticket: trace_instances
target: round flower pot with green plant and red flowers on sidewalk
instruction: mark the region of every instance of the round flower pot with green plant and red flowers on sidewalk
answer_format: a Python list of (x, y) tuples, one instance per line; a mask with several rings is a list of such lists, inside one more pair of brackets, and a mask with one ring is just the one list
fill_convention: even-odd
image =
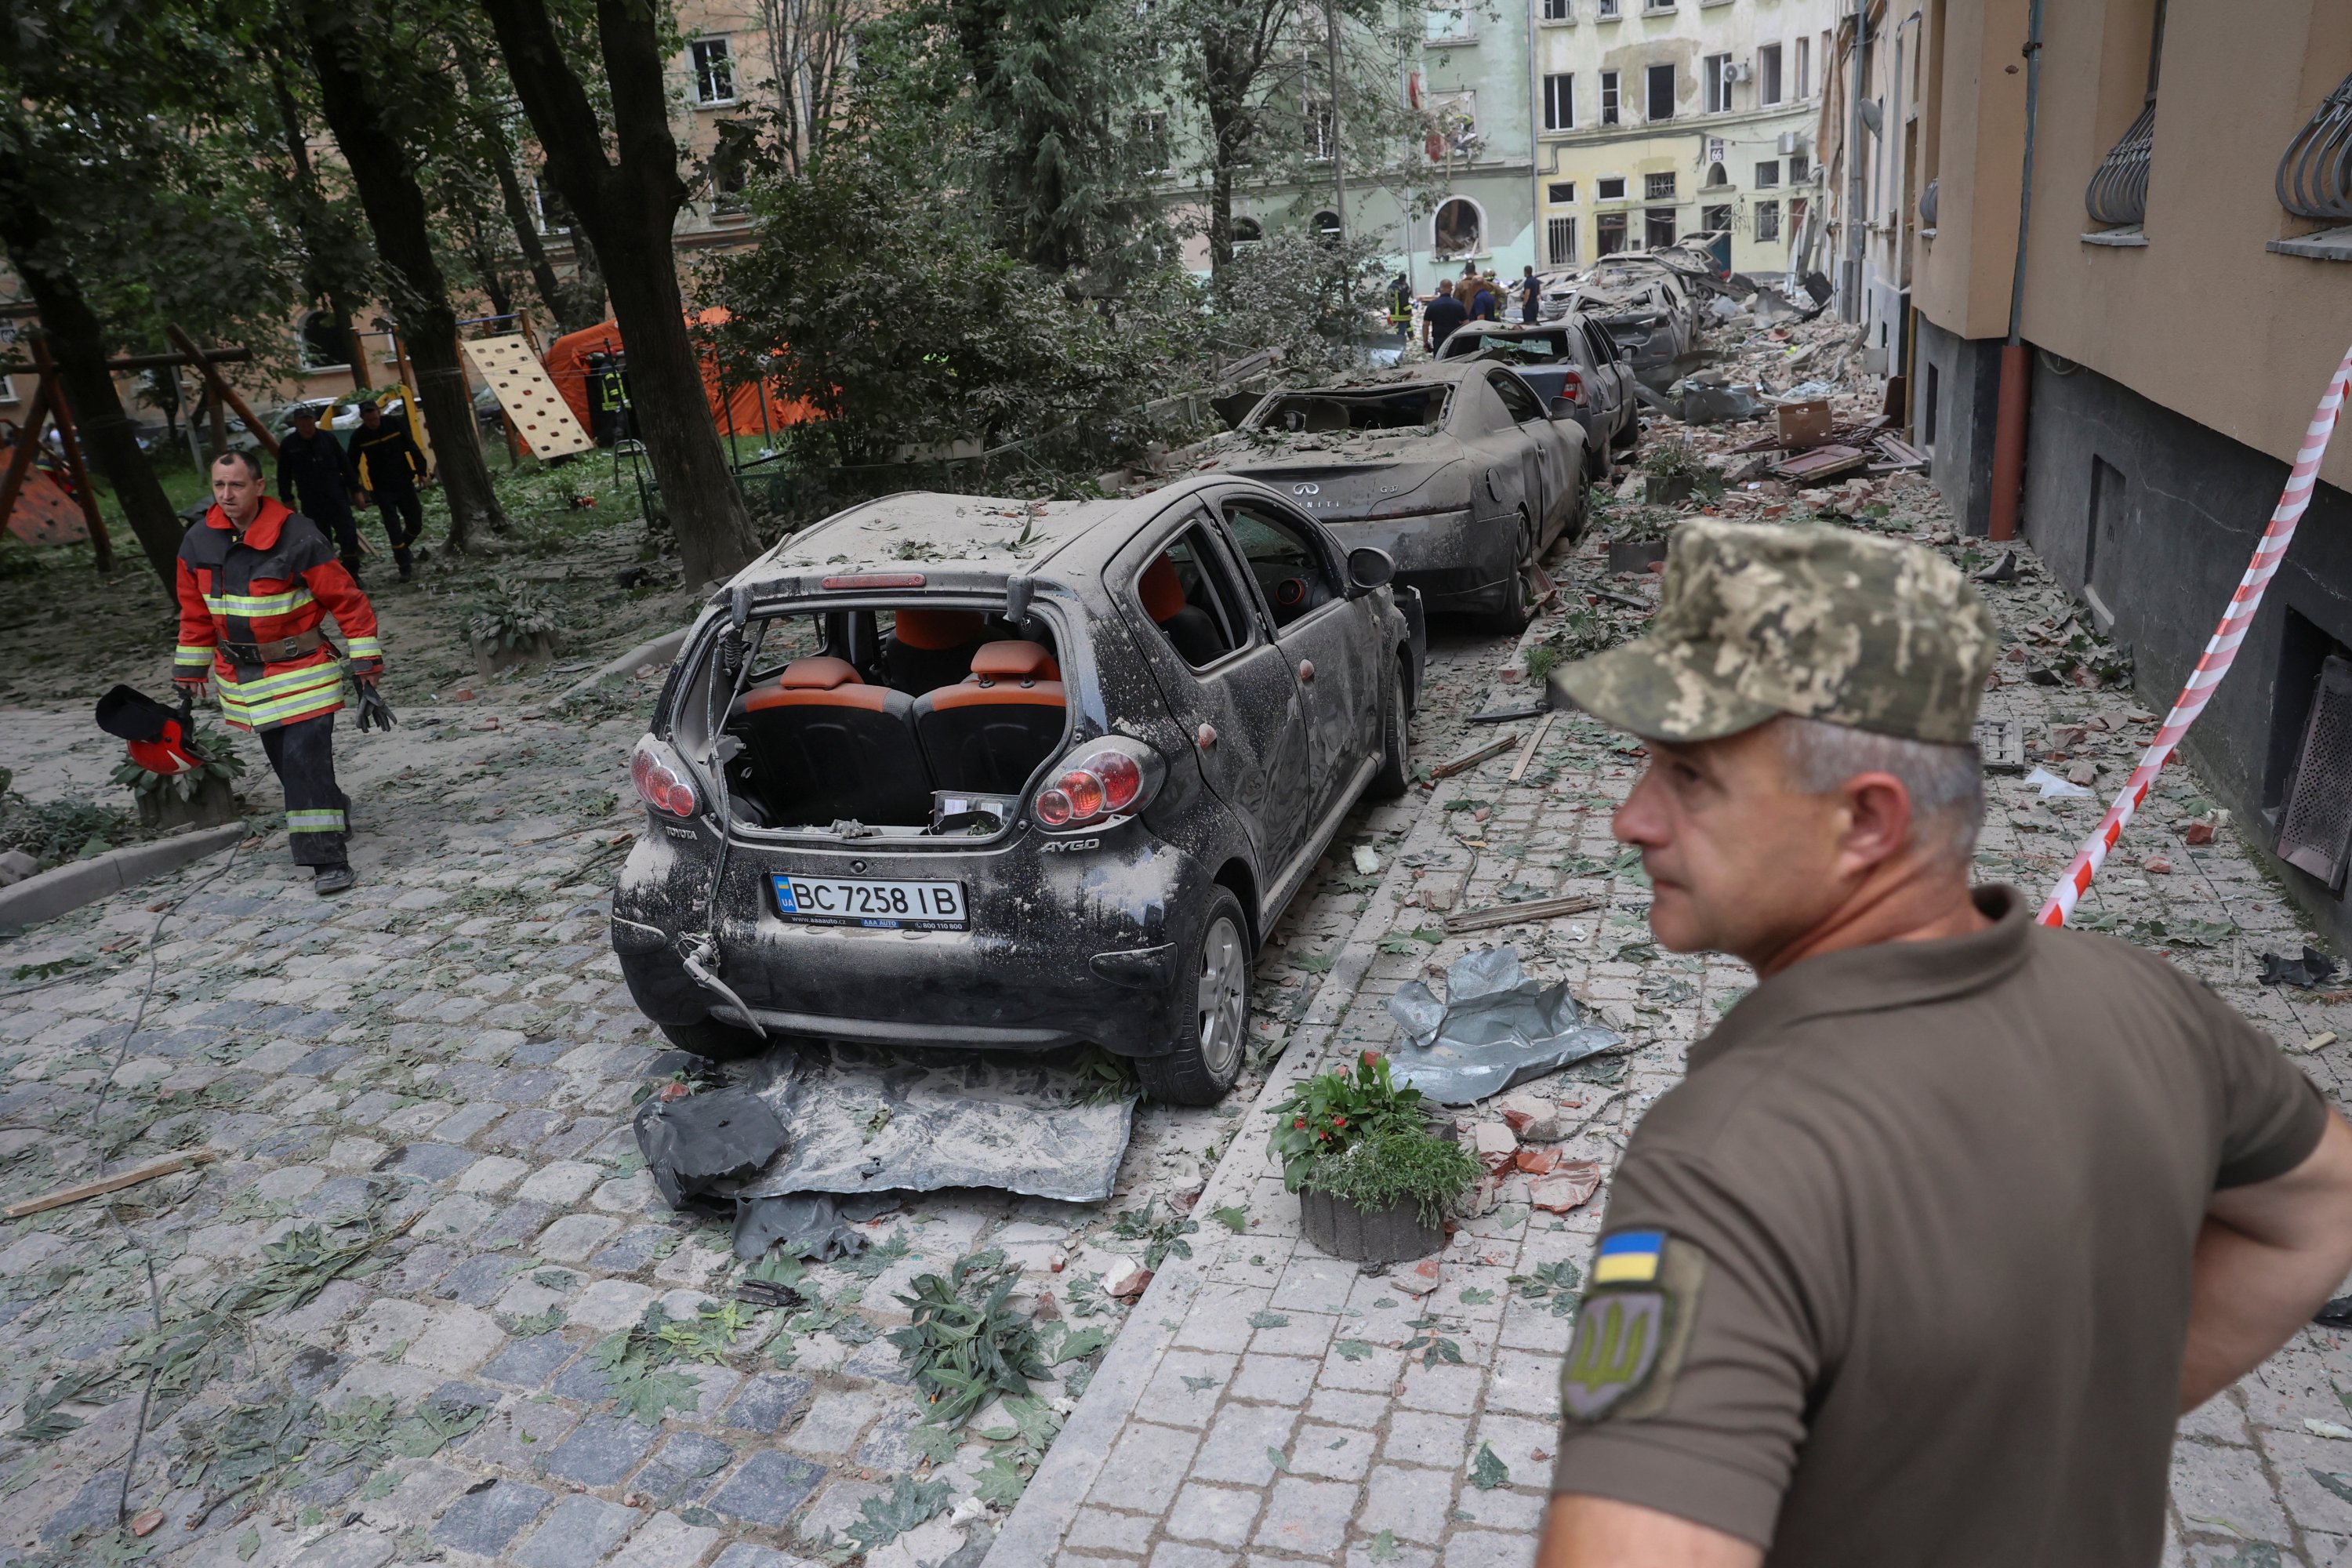
[(1404, 1262), (1446, 1244), (1444, 1222), (1477, 1185), (1479, 1164), (1454, 1128), (1430, 1124), (1421, 1091), (1364, 1051), (1298, 1084), (1275, 1107), (1265, 1152), (1298, 1194), (1298, 1229), (1350, 1262)]

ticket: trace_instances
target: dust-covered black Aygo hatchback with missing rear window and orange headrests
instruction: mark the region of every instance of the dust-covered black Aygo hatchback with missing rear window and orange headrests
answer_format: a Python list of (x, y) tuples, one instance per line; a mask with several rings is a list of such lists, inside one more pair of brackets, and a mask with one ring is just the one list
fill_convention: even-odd
[(903, 494), (713, 597), (637, 743), (614, 891), (637, 1006), (786, 1037), (1096, 1044), (1216, 1100), (1251, 954), (1409, 783), (1421, 604), (1261, 484)]

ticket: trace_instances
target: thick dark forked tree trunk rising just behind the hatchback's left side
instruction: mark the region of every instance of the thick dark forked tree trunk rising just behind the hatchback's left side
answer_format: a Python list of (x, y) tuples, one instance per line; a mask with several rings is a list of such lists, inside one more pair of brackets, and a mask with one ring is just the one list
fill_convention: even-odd
[(597, 0), (597, 45), (612, 85), (614, 148), (572, 73), (546, 0), (485, 0), (522, 110), (548, 155), (548, 176), (579, 219), (612, 289), (628, 343), (630, 402), (661, 482), (687, 583), (727, 578), (760, 552), (736, 491), (687, 336), (670, 223), (687, 202), (670, 136), (656, 12)]

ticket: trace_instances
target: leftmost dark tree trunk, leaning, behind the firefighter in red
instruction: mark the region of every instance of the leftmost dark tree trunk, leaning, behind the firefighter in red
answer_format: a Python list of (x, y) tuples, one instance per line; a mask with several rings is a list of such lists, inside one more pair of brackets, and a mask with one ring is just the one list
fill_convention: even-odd
[[(31, 188), (0, 162), (0, 249), (40, 306), (40, 327), (56, 357), (56, 378), (73, 411), (82, 451), (115, 491), (122, 517), (129, 520), (139, 548), (162, 581), (165, 592), (179, 592), (179, 517), (162, 494), (162, 480), (139, 451), (139, 425), (122, 409), (122, 395), (106, 369), (106, 329), (82, 296), (73, 273), (59, 268), (56, 235), (49, 216), (33, 205)], [(26, 430), (26, 440), (35, 433)], [(113, 559), (101, 552), (101, 569)]]

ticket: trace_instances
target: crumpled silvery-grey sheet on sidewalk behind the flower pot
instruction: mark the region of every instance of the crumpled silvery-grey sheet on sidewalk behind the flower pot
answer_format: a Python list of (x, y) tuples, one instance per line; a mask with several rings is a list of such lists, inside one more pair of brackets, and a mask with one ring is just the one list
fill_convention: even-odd
[(1536, 985), (1517, 947), (1479, 947), (1446, 969), (1446, 999), (1406, 980), (1388, 999), (1404, 1039), (1388, 1056), (1399, 1084), (1439, 1105), (1472, 1105), (1625, 1044), (1583, 1020), (1569, 983)]

